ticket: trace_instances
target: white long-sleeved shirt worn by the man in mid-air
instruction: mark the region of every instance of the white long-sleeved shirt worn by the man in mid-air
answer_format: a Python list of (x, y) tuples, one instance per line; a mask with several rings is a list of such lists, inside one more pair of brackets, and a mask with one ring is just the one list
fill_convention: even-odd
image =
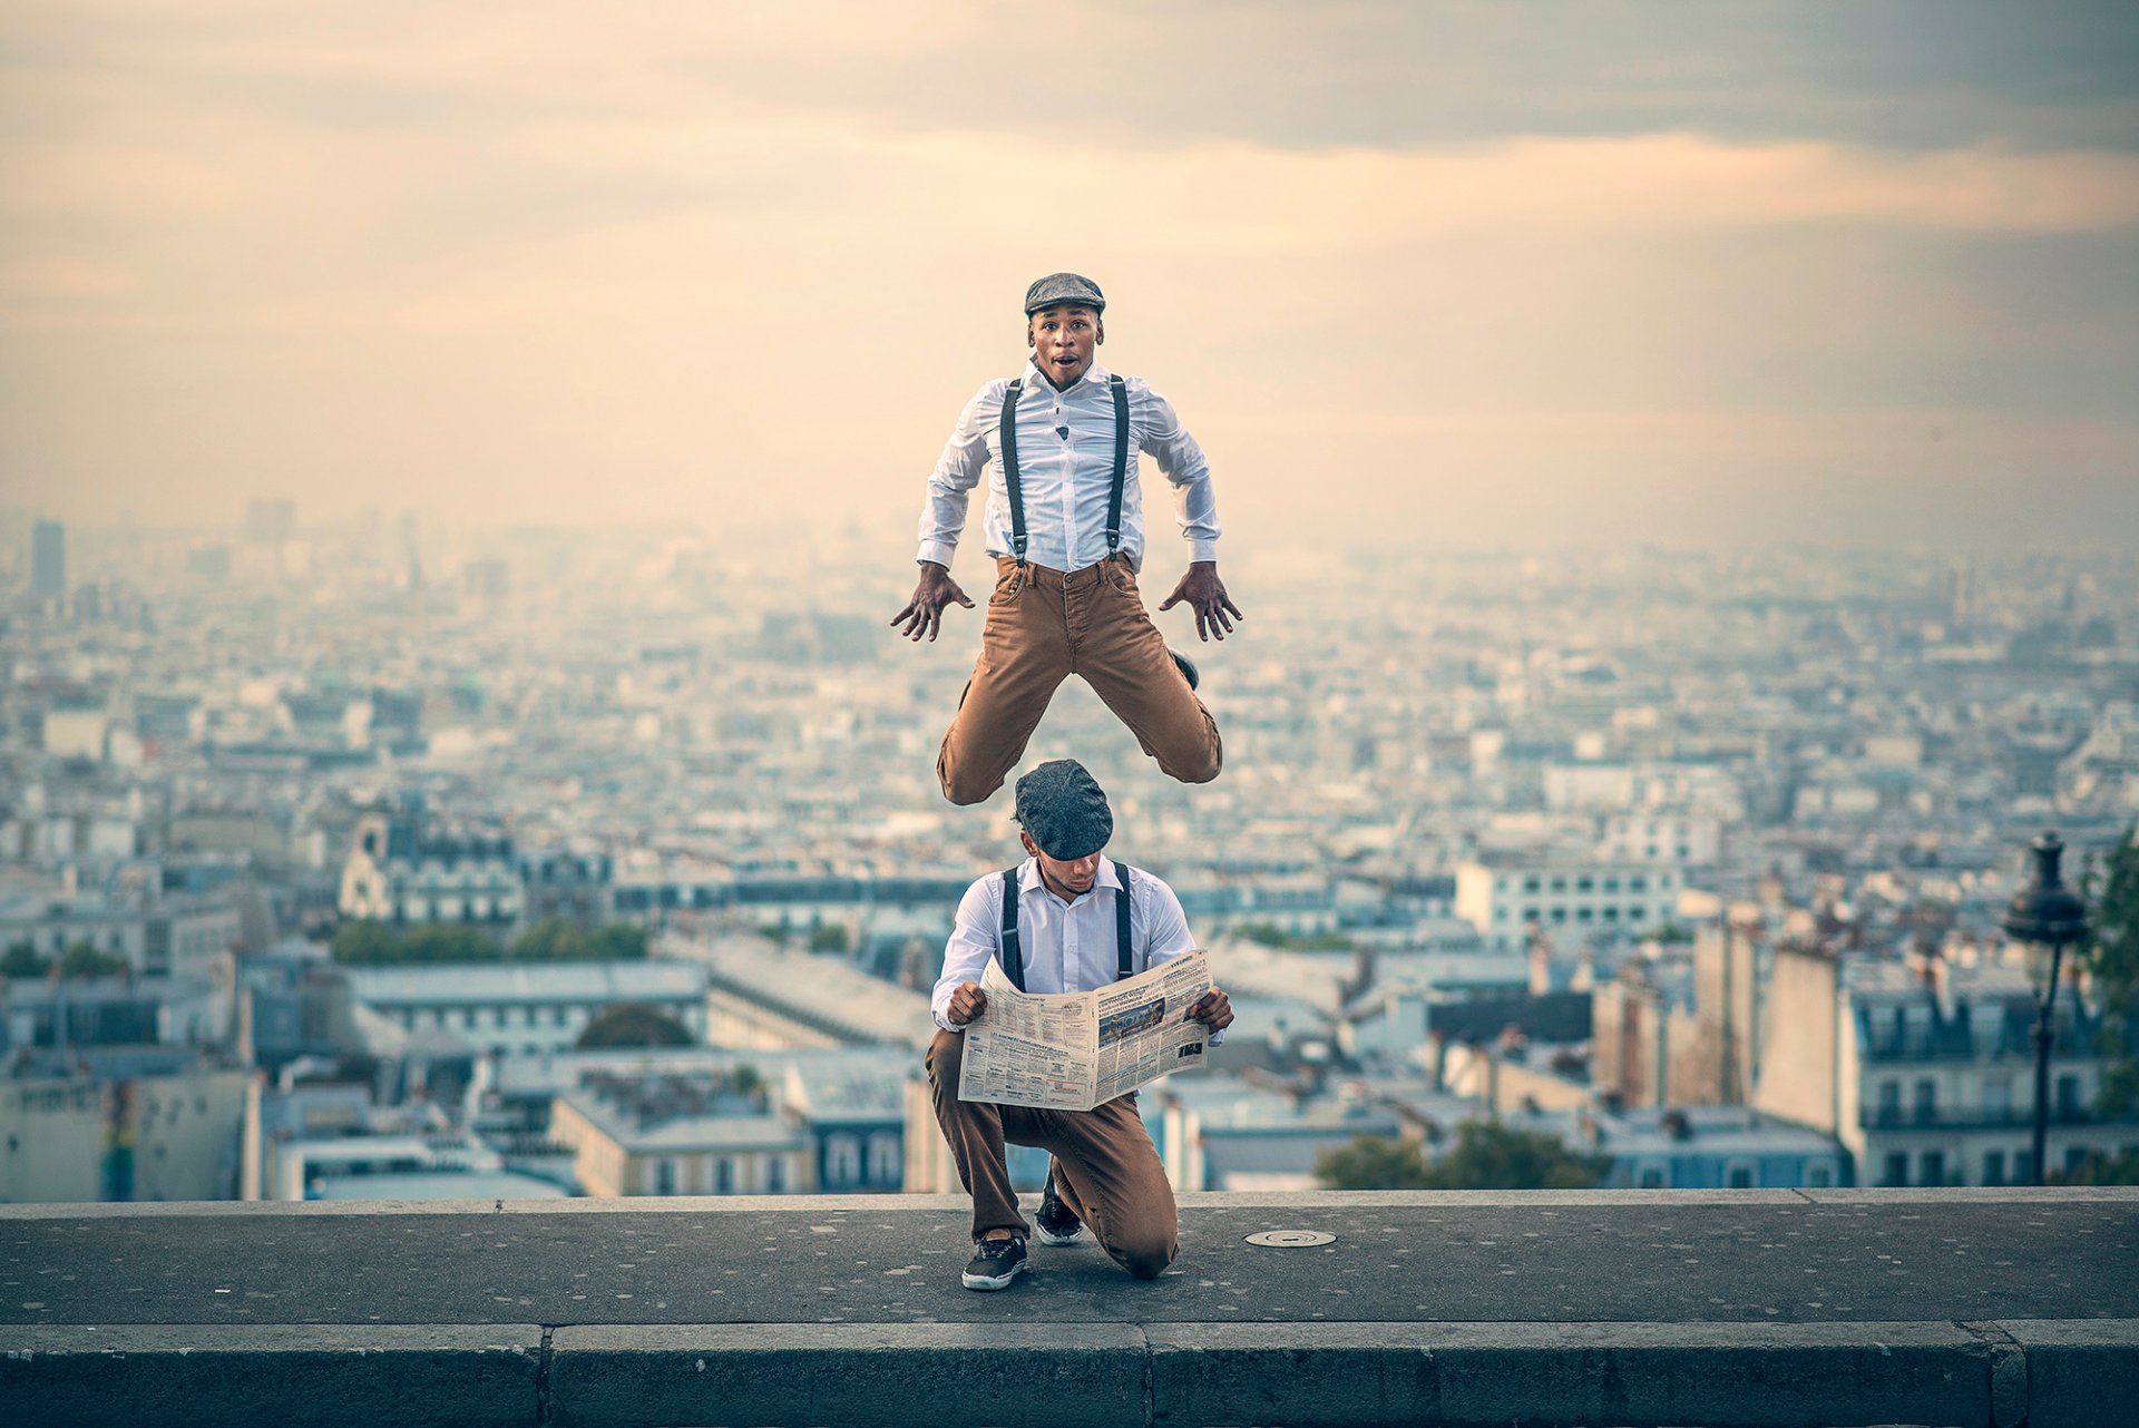
[[(1025, 487), (1025, 558), (1052, 571), (1082, 571), (1106, 560), (1106, 502), (1114, 487), (1114, 393), (1093, 363), (1070, 391), (1025, 363), (1018, 389), (1018, 483)], [(915, 560), (950, 566), (965, 530), (967, 494), (988, 472), (984, 515), (988, 554), (1010, 556), (1010, 485), (1003, 481), (1003, 391), (1010, 378), (982, 387), (928, 472), (922, 505), (922, 547)], [(1144, 498), (1138, 453), (1149, 451), (1174, 487), (1176, 522), (1189, 560), (1217, 560), (1217, 498), (1211, 464), (1172, 404), (1140, 376), (1125, 376), (1129, 395), (1129, 470), (1121, 490), (1121, 549), (1129, 569), (1144, 569)]]

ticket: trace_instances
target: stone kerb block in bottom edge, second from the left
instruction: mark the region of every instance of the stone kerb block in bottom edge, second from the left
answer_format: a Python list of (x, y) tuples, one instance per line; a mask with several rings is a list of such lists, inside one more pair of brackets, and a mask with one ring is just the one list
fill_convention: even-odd
[(560, 1428), (1102, 1428), (1144, 1424), (1144, 1334), (1095, 1323), (558, 1330)]

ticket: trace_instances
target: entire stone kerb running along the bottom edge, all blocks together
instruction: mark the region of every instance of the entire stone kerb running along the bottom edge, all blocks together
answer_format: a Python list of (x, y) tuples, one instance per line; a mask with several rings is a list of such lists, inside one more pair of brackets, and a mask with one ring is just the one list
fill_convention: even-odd
[(0, 1328), (6, 1422), (2109, 1428), (2139, 1319)]

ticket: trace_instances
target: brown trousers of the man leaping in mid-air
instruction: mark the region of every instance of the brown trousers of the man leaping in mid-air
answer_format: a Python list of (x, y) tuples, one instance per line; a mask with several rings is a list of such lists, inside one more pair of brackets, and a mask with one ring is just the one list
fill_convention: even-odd
[(1159, 770), (1181, 782), (1217, 778), (1217, 720), (1181, 678), (1136, 590), (1127, 556), (1082, 571), (995, 560), (980, 661), (937, 755), (943, 797), (978, 804), (1003, 787), (1055, 690), (1082, 676)]

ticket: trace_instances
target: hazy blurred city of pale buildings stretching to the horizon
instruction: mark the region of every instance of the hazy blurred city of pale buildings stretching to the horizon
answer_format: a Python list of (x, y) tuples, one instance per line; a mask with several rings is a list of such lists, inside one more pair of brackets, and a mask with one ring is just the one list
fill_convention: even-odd
[[(1142, 1099), (1176, 1186), (1489, 1118), (1619, 1186), (2038, 1169), (2000, 919), (2139, 819), (2139, 560), (1226, 575), (1215, 785), (1078, 684), (1029, 750), (1232, 992)], [(1020, 851), (935, 787), (980, 611), (907, 646), (909, 588), (860, 534), (0, 515), (0, 1199), (954, 1191), (928, 988)], [(2071, 985), (2053, 1171), (2139, 1148)]]

